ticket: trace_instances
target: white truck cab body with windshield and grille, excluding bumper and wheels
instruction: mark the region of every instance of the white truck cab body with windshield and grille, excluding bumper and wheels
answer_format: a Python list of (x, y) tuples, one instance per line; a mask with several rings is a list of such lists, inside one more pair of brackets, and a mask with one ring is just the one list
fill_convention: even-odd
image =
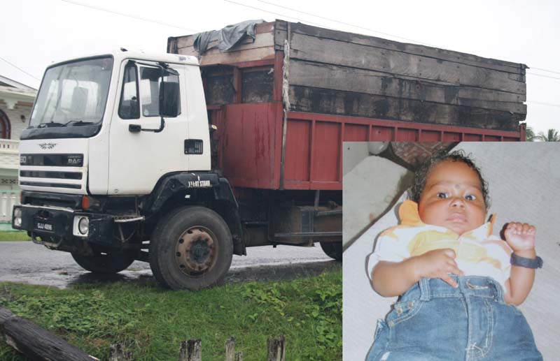
[[(162, 81), (178, 87), (171, 99), (179, 107), (176, 117), (160, 117)], [(202, 152), (186, 152), (192, 144)], [(168, 172), (210, 170), (209, 149), (194, 57), (125, 51), (84, 57), (45, 71), (22, 133), (20, 185), (25, 191), (143, 195)]]

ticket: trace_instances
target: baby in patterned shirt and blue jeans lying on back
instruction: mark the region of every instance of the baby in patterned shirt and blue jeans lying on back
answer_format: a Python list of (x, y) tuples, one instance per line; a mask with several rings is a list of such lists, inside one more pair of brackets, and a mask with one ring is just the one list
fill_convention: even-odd
[(367, 360), (542, 360), (514, 306), (542, 267), (535, 227), (511, 222), (505, 242), (492, 235), (486, 182), (461, 152), (426, 161), (411, 193), (369, 259), (374, 290), (400, 297)]

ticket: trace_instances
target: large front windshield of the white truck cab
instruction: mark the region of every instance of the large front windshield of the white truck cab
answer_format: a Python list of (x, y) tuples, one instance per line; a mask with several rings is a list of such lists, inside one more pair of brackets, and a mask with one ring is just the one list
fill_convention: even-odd
[(80, 126), (102, 121), (112, 57), (73, 61), (48, 68), (29, 120), (29, 128)]

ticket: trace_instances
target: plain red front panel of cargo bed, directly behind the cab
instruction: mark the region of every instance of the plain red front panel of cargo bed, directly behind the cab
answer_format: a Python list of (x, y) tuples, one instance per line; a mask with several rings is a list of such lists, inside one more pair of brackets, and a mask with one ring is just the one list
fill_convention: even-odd
[(279, 187), (281, 103), (231, 104), (218, 125), (219, 159), (233, 186)]

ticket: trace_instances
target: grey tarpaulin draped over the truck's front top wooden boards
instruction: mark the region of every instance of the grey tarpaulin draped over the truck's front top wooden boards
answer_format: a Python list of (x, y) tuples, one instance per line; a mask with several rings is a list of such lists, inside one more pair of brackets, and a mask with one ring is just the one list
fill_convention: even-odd
[(218, 40), (218, 49), (227, 52), (245, 35), (255, 40), (255, 25), (265, 20), (247, 20), (238, 24), (228, 25), (221, 30), (204, 31), (196, 35), (194, 47), (199, 54), (208, 50), (212, 41)]

